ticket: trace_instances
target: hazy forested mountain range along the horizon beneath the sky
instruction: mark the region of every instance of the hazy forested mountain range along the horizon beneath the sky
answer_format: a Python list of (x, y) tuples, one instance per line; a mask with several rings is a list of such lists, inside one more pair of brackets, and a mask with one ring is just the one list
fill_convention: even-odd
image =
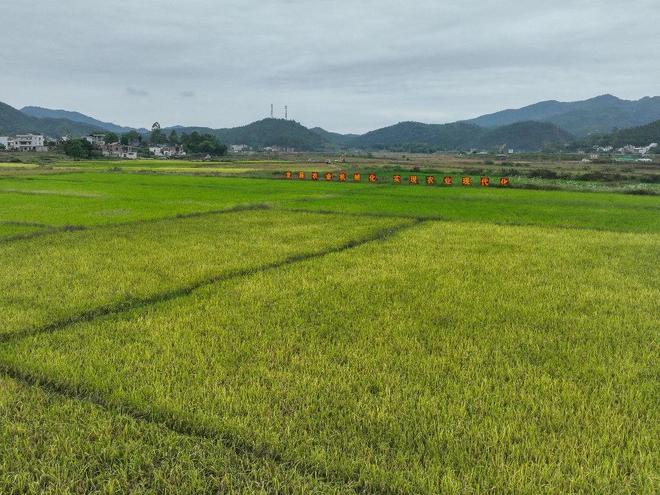
[[(624, 144), (660, 141), (660, 97), (636, 101), (602, 95), (577, 102), (545, 101), (515, 110), (483, 115), (451, 124), (400, 122), (366, 134), (339, 134), (320, 127), (308, 129), (292, 120), (263, 119), (229, 129), (172, 126), (169, 133), (210, 133), (226, 144), (255, 148), (279, 146), (301, 151), (338, 149), (394, 151), (451, 151), (500, 149), (536, 151), (574, 144), (626, 139)], [(655, 122), (654, 124), (651, 124)], [(651, 124), (651, 125), (648, 125)], [(631, 128), (628, 131), (619, 130)], [(0, 103), (0, 135), (39, 132), (51, 137), (83, 136), (93, 132), (124, 133), (136, 130), (103, 122), (79, 112), (24, 107), (16, 110)], [(614, 132), (610, 136), (609, 133)], [(634, 140), (641, 142), (637, 143)], [(647, 142), (648, 141), (648, 142)]]

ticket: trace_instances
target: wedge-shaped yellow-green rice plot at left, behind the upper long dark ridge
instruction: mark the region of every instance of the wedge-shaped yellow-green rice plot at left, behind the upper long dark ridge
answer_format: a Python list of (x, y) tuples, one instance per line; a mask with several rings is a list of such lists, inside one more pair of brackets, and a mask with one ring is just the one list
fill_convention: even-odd
[(175, 297), (218, 278), (409, 223), (238, 211), (0, 242), (0, 341), (3, 335)]

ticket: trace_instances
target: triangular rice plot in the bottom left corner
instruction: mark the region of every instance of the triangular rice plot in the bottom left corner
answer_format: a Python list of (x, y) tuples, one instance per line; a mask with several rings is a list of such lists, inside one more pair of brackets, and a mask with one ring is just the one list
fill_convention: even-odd
[(344, 493), (236, 452), (0, 377), (0, 493)]

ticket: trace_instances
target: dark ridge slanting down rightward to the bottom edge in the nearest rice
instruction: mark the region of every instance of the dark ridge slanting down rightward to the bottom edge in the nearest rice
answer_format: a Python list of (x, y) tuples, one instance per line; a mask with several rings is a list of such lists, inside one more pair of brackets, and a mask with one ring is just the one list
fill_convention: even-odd
[(224, 447), (238, 455), (271, 461), (286, 470), (298, 472), (303, 476), (312, 476), (324, 483), (341, 484), (354, 493), (386, 495), (402, 493), (401, 490), (387, 486), (373, 486), (370, 483), (372, 480), (360, 480), (358, 476), (349, 473), (331, 471), (326, 464), (312, 463), (300, 458), (288, 458), (270, 445), (246, 441), (240, 435), (221, 427), (213, 428), (208, 425), (196, 424), (192, 421), (176, 418), (155, 408), (141, 409), (131, 404), (130, 401), (109, 400), (104, 394), (83, 385), (69, 385), (38, 373), (25, 372), (16, 366), (7, 365), (3, 362), (0, 362), (0, 373), (22, 385), (37, 387), (47, 394), (57, 395), (65, 399), (87, 402), (113, 415), (122, 414), (136, 421), (166, 428), (177, 435), (220, 442)]

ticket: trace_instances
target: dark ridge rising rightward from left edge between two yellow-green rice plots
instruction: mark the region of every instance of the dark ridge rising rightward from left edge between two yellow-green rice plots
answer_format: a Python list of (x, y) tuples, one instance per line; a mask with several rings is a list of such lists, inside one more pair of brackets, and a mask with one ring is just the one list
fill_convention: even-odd
[(103, 305), (103, 306), (98, 306), (96, 308), (92, 308), (83, 312), (80, 312), (78, 314), (62, 318), (60, 320), (56, 320), (54, 322), (48, 323), (44, 326), (41, 327), (36, 327), (36, 328), (28, 328), (24, 330), (19, 330), (17, 332), (12, 332), (12, 333), (6, 333), (6, 334), (1, 334), (0, 335), (0, 344), (6, 344), (9, 342), (16, 342), (18, 340), (22, 340), (24, 338), (28, 337), (33, 337), (36, 335), (41, 335), (45, 333), (54, 333), (60, 330), (63, 330), (71, 325), (74, 325), (76, 323), (83, 323), (83, 322), (89, 322), (92, 320), (95, 320), (97, 318), (101, 318), (104, 316), (109, 316), (109, 315), (116, 315), (120, 313), (124, 313), (126, 311), (130, 311), (132, 309), (138, 309), (142, 307), (147, 307), (147, 306), (152, 306), (154, 304), (158, 304), (161, 302), (166, 302), (166, 301), (171, 301), (173, 299), (178, 299), (179, 297), (185, 297), (187, 295), (190, 295), (194, 291), (201, 289), (203, 287), (208, 287), (217, 283), (221, 282), (226, 282), (229, 280), (233, 280), (236, 278), (241, 278), (241, 277), (247, 277), (250, 275), (254, 275), (256, 273), (262, 273), (262, 272), (267, 272), (267, 271), (272, 271), (272, 270), (277, 270), (278, 268), (282, 268), (287, 265), (292, 265), (295, 263), (299, 263), (302, 261), (307, 261), (311, 259), (317, 259), (317, 258), (322, 258), (324, 256), (330, 255), (330, 254), (335, 254), (335, 253), (340, 253), (342, 251), (346, 251), (349, 249), (353, 249), (359, 246), (363, 246), (365, 244), (371, 243), (371, 242), (377, 242), (377, 241), (384, 241), (389, 239), (390, 237), (394, 236), (395, 234), (415, 227), (417, 225), (420, 225), (424, 223), (425, 220), (418, 220), (415, 219), (411, 222), (404, 222), (401, 223), (400, 225), (395, 225), (393, 227), (389, 228), (382, 228), (378, 229), (374, 232), (371, 232), (368, 235), (365, 235), (363, 237), (357, 238), (357, 239), (349, 239), (346, 242), (343, 242), (340, 245), (337, 246), (330, 246), (324, 249), (321, 249), (319, 251), (313, 251), (313, 252), (307, 252), (307, 253), (298, 253), (298, 254), (292, 254), (289, 256), (286, 256), (285, 258), (279, 260), (279, 261), (274, 261), (271, 263), (267, 263), (264, 265), (252, 267), (252, 268), (242, 268), (242, 269), (236, 269), (236, 270), (231, 270), (225, 273), (220, 273), (214, 276), (207, 277), (202, 280), (198, 280), (196, 282), (193, 282), (191, 284), (188, 284), (184, 287), (178, 287), (174, 289), (170, 289), (167, 291), (159, 292), (147, 297), (136, 297), (136, 298), (129, 298), (129, 299), (124, 299), (123, 301), (118, 301), (113, 304), (108, 304), (108, 305)]

